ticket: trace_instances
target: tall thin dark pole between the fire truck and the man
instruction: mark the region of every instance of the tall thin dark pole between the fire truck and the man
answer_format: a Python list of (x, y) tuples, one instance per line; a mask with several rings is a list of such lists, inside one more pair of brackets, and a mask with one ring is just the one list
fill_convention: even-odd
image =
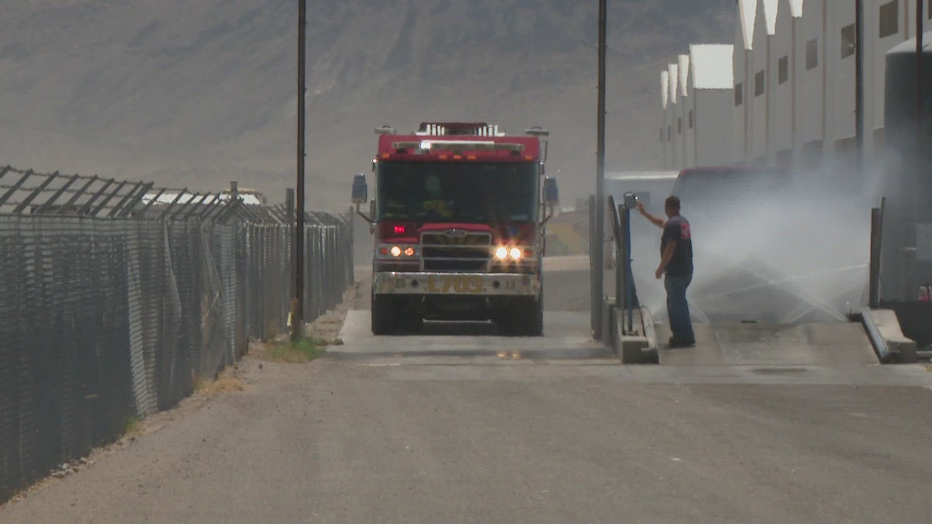
[(598, 0), (598, 117), (596, 118), (596, 232), (592, 236), (594, 243), (592, 275), (592, 303), (597, 304), (592, 312), (596, 316), (596, 335), (602, 338), (605, 326), (602, 325), (602, 293), (605, 276), (605, 56), (606, 28), (608, 7), (607, 0)]

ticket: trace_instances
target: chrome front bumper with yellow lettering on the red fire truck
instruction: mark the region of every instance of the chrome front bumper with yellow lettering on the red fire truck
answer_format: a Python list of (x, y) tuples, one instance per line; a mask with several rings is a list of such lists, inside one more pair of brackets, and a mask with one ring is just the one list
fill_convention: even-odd
[(378, 295), (538, 296), (541, 279), (516, 273), (378, 272), (372, 288)]

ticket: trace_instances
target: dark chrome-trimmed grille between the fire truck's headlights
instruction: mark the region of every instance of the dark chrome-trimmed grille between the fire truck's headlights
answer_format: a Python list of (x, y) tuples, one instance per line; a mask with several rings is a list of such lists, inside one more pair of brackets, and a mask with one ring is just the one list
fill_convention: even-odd
[(421, 256), (424, 270), (486, 272), (491, 241), (488, 233), (423, 233)]

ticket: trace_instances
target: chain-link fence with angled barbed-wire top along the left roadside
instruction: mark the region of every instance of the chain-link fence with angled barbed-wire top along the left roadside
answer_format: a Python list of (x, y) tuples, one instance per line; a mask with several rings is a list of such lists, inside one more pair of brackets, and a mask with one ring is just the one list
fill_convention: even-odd
[[(294, 220), (247, 196), (0, 168), (0, 502), (287, 330)], [(307, 320), (350, 218), (306, 217)]]

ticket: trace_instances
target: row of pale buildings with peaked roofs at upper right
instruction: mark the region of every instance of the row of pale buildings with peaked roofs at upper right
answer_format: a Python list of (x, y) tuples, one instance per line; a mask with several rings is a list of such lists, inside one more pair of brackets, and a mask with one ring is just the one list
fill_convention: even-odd
[[(916, 1), (864, 0), (869, 161), (884, 145), (885, 54), (915, 36)], [(932, 0), (919, 1), (927, 3), (927, 31), (932, 29)], [(696, 54), (702, 46), (692, 46), (685, 62), (678, 57), (666, 72), (665, 166), (725, 163), (707, 153), (722, 147), (706, 144), (712, 131), (704, 125), (710, 118), (731, 122), (728, 163), (815, 170), (829, 160), (843, 166), (856, 150), (855, 0), (737, 0), (735, 5), (732, 92), (727, 108), (715, 105), (718, 118), (702, 102), (705, 91), (696, 92), (692, 85), (693, 74), (701, 75), (706, 67)]]

